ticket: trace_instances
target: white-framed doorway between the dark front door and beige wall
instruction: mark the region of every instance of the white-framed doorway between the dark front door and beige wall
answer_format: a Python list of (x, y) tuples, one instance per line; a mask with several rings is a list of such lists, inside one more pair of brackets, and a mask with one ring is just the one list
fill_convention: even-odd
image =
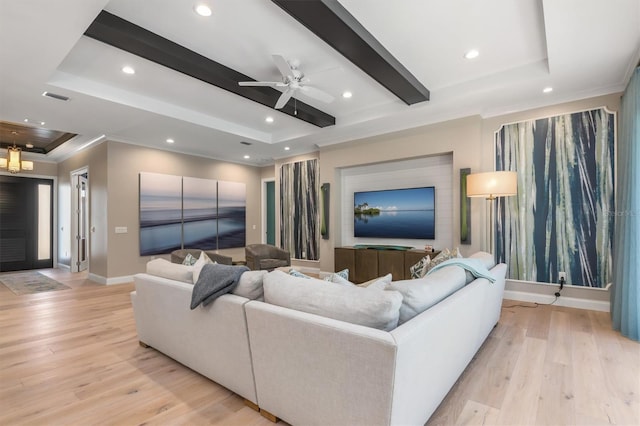
[(89, 170), (71, 172), (71, 271), (89, 267)]

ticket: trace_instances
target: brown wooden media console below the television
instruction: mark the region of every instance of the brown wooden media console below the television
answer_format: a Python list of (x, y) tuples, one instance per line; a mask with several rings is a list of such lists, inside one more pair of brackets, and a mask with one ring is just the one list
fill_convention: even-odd
[(428, 252), (400, 246), (356, 245), (334, 249), (335, 270), (349, 269), (349, 281), (362, 283), (391, 273), (394, 281), (411, 278), (409, 268), (423, 257), (435, 257), (439, 251)]

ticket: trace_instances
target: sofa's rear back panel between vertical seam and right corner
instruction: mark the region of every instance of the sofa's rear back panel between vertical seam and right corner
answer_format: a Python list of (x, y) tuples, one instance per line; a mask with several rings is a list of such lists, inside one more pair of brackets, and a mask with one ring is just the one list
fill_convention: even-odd
[(260, 408), (291, 424), (389, 424), (388, 332), (256, 301), (245, 310)]

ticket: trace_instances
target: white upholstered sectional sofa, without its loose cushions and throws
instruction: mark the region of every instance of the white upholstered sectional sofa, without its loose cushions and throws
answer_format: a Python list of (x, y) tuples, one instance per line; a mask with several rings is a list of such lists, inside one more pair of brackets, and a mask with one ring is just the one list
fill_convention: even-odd
[[(460, 269), (434, 277), (464, 276), (449, 268)], [(136, 275), (132, 301), (141, 342), (290, 424), (421, 425), (498, 322), (506, 265), (490, 274), (390, 331), (267, 303), (268, 291), (267, 302), (229, 294), (191, 311), (191, 285), (149, 274)], [(410, 305), (406, 288), (420, 283), (390, 289), (404, 286)]]

